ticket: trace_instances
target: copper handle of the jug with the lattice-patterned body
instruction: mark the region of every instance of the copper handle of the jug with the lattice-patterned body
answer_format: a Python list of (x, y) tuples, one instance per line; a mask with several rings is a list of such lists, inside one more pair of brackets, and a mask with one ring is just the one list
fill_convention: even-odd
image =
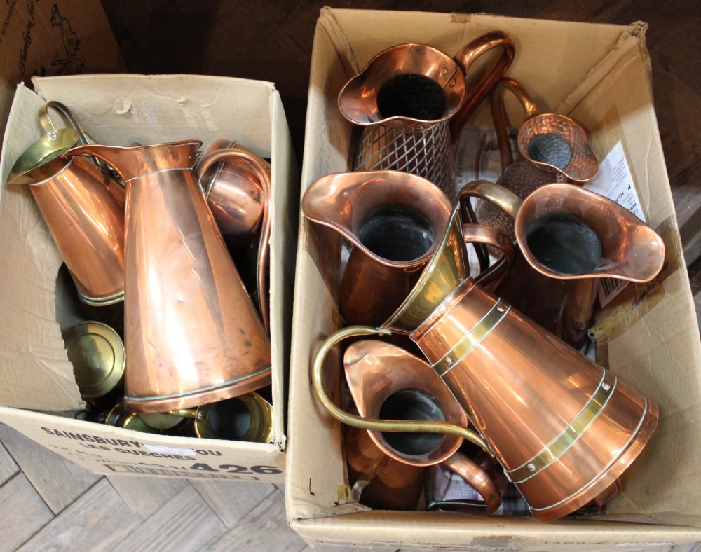
[(477, 106), (489, 95), (489, 92), (494, 89), (498, 81), (501, 80), (510, 67), (514, 60), (516, 46), (511, 36), (503, 31), (494, 31), (473, 40), (453, 56), (453, 59), (463, 68), (463, 72), (467, 74), (472, 63), (474, 63), (480, 55), (497, 47), (503, 48), (501, 56), (491, 65), (489, 71), (484, 74), (482, 80), (475, 86), (475, 91), (472, 92), (470, 97), (465, 99), (460, 110), (451, 119), (450, 130), (454, 142), (458, 138), (460, 131), (470, 115), (472, 115), (475, 109), (477, 109)]

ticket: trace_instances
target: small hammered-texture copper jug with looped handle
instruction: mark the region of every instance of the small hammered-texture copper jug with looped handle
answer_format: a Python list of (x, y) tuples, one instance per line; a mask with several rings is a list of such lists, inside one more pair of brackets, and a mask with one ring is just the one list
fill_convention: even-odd
[[(524, 109), (524, 122), (517, 134), (518, 153), (514, 159), (509, 123), (504, 105), (505, 92), (512, 92)], [(583, 183), (599, 171), (599, 160), (589, 145), (587, 132), (575, 120), (559, 113), (541, 113), (524, 85), (504, 77), (491, 94), (502, 175), (497, 184), (525, 198), (536, 188), (554, 182)], [(496, 205), (480, 201), (477, 220), (496, 226), (512, 239), (513, 219)]]

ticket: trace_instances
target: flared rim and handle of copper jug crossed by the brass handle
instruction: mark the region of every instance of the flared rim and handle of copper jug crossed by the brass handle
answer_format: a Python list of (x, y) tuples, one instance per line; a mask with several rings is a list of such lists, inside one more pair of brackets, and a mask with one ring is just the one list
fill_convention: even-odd
[[(346, 380), (363, 418), (440, 420), (468, 426), (465, 410), (430, 366), (401, 347), (378, 340), (352, 343), (343, 355)], [(461, 476), (482, 496), (474, 513), (489, 514), (501, 504), (491, 477), (458, 449), (455, 435), (369, 431), (389, 457), (416, 467), (441, 464)]]

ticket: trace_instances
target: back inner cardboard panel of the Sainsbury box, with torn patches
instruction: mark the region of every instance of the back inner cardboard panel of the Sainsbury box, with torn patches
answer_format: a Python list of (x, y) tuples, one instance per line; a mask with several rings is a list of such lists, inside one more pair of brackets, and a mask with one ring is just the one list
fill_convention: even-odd
[[(201, 75), (77, 75), (32, 79), (39, 95), (71, 109), (95, 142), (162, 144), (236, 139), (271, 157), (272, 83)], [(83, 90), (90, 90), (90, 93)], [(83, 95), (84, 94), (84, 95)], [(226, 101), (219, 101), (225, 98)], [(60, 119), (58, 119), (60, 121)], [(88, 124), (87, 120), (99, 121)], [(242, 132), (226, 136), (231, 127)]]

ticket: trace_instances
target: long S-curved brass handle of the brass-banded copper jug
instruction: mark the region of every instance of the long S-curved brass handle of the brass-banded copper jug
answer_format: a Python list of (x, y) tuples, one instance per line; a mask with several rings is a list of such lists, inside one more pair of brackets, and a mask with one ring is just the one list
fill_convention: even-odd
[(323, 341), (312, 361), (311, 380), (314, 394), (327, 412), (336, 418), (336, 420), (346, 425), (374, 432), (427, 432), (457, 435), (470, 441), (470, 443), (475, 443), (475, 445), (484, 448), (489, 455), (494, 456), (494, 453), (489, 450), (489, 446), (487, 446), (484, 439), (482, 439), (482, 436), (466, 427), (450, 424), (448, 422), (437, 422), (435, 420), (376, 420), (374, 418), (362, 418), (347, 413), (345, 410), (336, 406), (324, 388), (322, 375), (324, 360), (327, 354), (329, 354), (329, 351), (346, 338), (372, 335), (388, 336), (391, 333), (390, 330), (372, 328), (371, 326), (348, 326), (347, 328), (341, 328), (335, 331)]

